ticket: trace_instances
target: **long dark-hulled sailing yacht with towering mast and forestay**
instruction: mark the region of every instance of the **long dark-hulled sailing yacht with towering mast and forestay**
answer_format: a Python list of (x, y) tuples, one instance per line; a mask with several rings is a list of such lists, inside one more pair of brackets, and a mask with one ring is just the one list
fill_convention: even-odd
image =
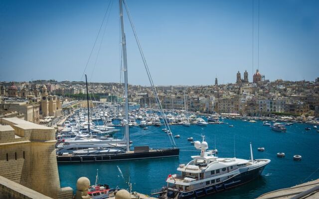
[[(133, 160), (133, 159), (146, 159), (146, 158), (162, 158), (162, 157), (173, 157), (173, 156), (178, 156), (179, 155), (179, 149), (176, 147), (174, 138), (172, 137), (172, 133), (168, 134), (168, 137), (170, 139), (170, 142), (172, 144), (172, 148), (168, 149), (152, 149), (150, 150), (149, 146), (136, 146), (134, 147), (134, 151), (131, 151), (130, 149), (130, 134), (129, 134), (129, 122), (130, 122), (130, 117), (129, 117), (129, 99), (128, 99), (128, 68), (127, 68), (127, 54), (126, 54), (126, 39), (125, 39), (125, 32), (124, 32), (124, 17), (123, 17), (123, 5), (122, 3), (124, 2), (124, 5), (127, 8), (127, 5), (125, 4), (125, 0), (119, 0), (119, 5), (120, 5), (120, 21), (121, 21), (121, 34), (122, 34), (122, 59), (123, 59), (123, 71), (124, 71), (124, 99), (125, 99), (125, 114), (122, 120), (122, 123), (124, 125), (124, 131), (125, 131), (125, 136), (122, 141), (125, 141), (126, 143), (126, 151), (125, 153), (102, 153), (102, 154), (84, 154), (84, 155), (77, 155), (77, 154), (69, 154), (69, 155), (58, 155), (57, 156), (57, 161), (58, 162), (92, 162), (92, 161), (114, 161), (114, 160)], [(127, 8), (128, 10), (128, 8)], [(129, 19), (131, 20), (130, 13), (127, 12)], [(131, 21), (132, 23), (132, 21)], [(132, 26), (134, 35), (137, 37), (137, 34), (135, 32), (134, 26)], [(138, 39), (137, 39), (138, 41)], [(139, 42), (138, 42), (139, 44)], [(140, 44), (139, 44), (140, 48)], [(141, 49), (140, 49), (141, 51)], [(143, 57), (143, 55), (142, 55)], [(143, 57), (143, 59), (145, 59)], [(145, 61), (145, 60), (144, 60)], [(147, 67), (147, 66), (146, 66)], [(161, 103), (158, 97), (158, 93), (156, 91), (156, 88), (153, 84), (153, 81), (151, 81), (152, 77), (149, 74), (149, 71), (147, 70), (148, 76), (150, 78), (151, 85), (155, 91), (155, 96), (156, 100), (160, 104), (160, 110), (162, 114), (164, 114)], [(90, 121), (90, 113), (89, 113), (89, 102), (88, 102), (88, 86), (87, 86), (87, 77), (86, 78), (86, 90), (87, 90), (87, 103), (88, 103), (88, 121)], [(119, 113), (119, 118), (122, 118), (122, 114)], [(154, 119), (155, 125), (161, 125), (160, 124), (160, 119), (156, 117)], [(170, 128), (167, 123), (167, 118), (164, 116), (164, 125), (168, 129), (169, 132)], [(88, 129), (90, 129), (90, 122), (88, 123)], [(90, 130), (89, 130), (90, 132)], [(77, 140), (74, 140), (77, 141)], [(87, 140), (85, 140), (87, 141)], [(82, 151), (81, 151), (82, 152)], [(81, 153), (82, 154), (82, 153)]]

